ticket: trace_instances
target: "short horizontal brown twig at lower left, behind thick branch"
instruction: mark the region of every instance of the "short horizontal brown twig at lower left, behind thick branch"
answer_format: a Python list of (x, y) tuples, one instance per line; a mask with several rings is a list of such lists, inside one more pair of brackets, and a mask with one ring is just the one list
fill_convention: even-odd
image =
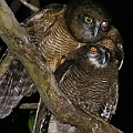
[(19, 109), (38, 109), (38, 103), (22, 103)]

